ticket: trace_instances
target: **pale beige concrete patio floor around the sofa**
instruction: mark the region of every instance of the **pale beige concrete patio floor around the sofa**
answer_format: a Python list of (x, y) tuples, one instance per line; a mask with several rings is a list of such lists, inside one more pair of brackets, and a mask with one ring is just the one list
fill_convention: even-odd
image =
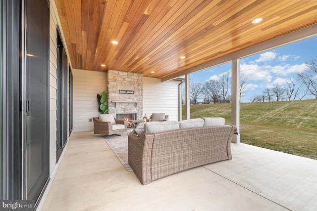
[(42, 211), (316, 211), (317, 161), (247, 144), (142, 185), (101, 135), (73, 132)]

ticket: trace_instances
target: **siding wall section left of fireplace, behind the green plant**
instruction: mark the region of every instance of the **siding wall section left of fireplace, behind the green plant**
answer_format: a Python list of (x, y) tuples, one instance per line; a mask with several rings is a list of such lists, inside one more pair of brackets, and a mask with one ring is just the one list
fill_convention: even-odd
[(97, 94), (107, 87), (107, 73), (72, 70), (73, 73), (73, 131), (94, 130), (89, 119), (99, 116)]

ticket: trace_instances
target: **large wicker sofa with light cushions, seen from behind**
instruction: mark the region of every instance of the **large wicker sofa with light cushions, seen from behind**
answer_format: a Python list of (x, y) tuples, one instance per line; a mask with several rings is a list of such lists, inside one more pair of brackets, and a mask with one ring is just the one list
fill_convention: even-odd
[(236, 127), (214, 126), (208, 119), (148, 122), (143, 133), (130, 134), (128, 162), (142, 184), (185, 169), (231, 160), (230, 143)]

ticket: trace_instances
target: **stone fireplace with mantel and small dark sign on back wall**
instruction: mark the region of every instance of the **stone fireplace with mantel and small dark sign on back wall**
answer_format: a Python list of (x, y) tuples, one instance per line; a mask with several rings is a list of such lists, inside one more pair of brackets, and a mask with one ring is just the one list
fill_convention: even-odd
[(118, 119), (129, 115), (131, 120), (142, 120), (143, 75), (108, 70), (108, 113)]

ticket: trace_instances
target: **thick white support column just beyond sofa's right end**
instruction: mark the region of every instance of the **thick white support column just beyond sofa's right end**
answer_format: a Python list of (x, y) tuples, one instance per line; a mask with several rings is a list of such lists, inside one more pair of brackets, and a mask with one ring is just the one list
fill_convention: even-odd
[(240, 143), (240, 60), (232, 60), (231, 124), (237, 126), (238, 134), (233, 134), (233, 143)]

